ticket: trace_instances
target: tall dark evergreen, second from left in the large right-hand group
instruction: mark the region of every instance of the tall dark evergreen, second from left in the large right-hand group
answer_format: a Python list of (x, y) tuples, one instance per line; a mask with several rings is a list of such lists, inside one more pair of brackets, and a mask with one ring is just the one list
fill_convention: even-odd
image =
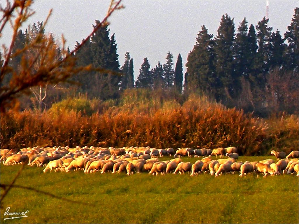
[(217, 88), (217, 100), (231, 99), (234, 97), (235, 88), (234, 83), (236, 80), (234, 74), (234, 36), (235, 25), (234, 19), (231, 19), (228, 14), (222, 16), (220, 26), (217, 30), (215, 38), (215, 53), (216, 53), (216, 74), (220, 85)]

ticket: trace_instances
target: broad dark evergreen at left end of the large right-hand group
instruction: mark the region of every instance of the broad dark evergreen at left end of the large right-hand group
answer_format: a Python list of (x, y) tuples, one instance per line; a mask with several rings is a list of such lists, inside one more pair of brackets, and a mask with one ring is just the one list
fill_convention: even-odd
[(199, 31), (196, 37), (196, 44), (193, 50), (188, 54), (187, 72), (188, 72), (188, 87), (186, 80), (184, 89), (196, 90), (200, 89), (205, 93), (214, 93), (216, 89), (216, 79), (214, 72), (214, 41), (213, 34), (208, 34), (208, 29), (202, 25), (202, 30)]

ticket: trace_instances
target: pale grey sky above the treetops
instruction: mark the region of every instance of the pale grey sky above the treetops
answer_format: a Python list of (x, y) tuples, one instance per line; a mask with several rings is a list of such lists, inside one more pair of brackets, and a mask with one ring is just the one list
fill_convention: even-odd
[[(6, 1), (0, 1), (1, 7)], [(66, 45), (74, 49), (76, 41), (81, 42), (92, 31), (94, 20), (102, 20), (107, 13), (110, 1), (40, 1), (32, 4), (35, 14), (25, 23), (22, 30), (33, 22), (44, 21), (50, 9), (52, 15), (45, 27), (46, 33), (53, 33), (58, 39), (61, 34)], [(125, 8), (115, 11), (110, 22), (110, 36), (115, 33), (119, 64), (124, 63), (128, 51), (134, 61), (134, 79), (145, 57), (150, 69), (160, 61), (166, 63), (167, 52), (173, 54), (173, 68), (180, 53), (183, 60), (183, 73), (186, 72), (188, 53), (193, 49), (198, 32), (204, 24), (208, 33), (217, 35), (222, 15), (234, 18), (235, 30), (244, 17), (254, 26), (266, 16), (266, 0), (260, 1), (129, 1), (123, 0)], [(295, 7), (299, 1), (269, 1), (269, 23), (273, 31), (281, 35), (291, 23)], [(6, 27), (1, 34), (1, 45), (8, 46), (11, 30)], [(1, 49), (2, 51), (2, 49)]]

